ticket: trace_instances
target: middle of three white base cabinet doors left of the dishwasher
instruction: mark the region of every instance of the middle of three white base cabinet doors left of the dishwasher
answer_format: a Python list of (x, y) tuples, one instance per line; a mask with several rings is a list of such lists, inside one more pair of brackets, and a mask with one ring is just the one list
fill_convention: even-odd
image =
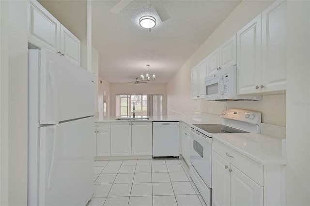
[(111, 156), (131, 156), (131, 122), (111, 122)]

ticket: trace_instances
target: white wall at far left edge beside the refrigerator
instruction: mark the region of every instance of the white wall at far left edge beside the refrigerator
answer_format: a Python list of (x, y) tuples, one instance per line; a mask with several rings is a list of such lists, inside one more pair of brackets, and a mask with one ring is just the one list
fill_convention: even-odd
[[(27, 205), (27, 3), (23, 0), (0, 2), (1, 206)], [(2, 21), (6, 22), (2, 25)]]

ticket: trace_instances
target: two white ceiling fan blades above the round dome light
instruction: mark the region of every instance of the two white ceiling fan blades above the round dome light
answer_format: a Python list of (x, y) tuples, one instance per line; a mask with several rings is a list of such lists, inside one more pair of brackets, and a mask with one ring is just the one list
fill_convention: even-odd
[[(125, 6), (127, 6), (131, 1), (132, 0), (120, 0), (112, 8), (109, 9), (109, 12), (113, 14), (120, 13), (122, 9), (124, 9)], [(161, 21), (166, 21), (170, 19), (170, 15), (168, 14), (161, 0), (153, 0), (152, 3)]]

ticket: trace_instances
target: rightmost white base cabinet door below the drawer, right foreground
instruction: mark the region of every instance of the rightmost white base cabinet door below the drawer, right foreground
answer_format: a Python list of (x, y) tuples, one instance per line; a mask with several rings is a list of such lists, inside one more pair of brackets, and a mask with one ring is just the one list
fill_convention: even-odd
[(231, 165), (231, 206), (262, 205), (263, 187)]

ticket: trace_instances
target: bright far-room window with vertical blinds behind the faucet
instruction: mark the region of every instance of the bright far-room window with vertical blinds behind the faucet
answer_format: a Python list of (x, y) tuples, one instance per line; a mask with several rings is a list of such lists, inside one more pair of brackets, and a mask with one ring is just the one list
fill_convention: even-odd
[(116, 95), (116, 116), (162, 116), (163, 95)]

